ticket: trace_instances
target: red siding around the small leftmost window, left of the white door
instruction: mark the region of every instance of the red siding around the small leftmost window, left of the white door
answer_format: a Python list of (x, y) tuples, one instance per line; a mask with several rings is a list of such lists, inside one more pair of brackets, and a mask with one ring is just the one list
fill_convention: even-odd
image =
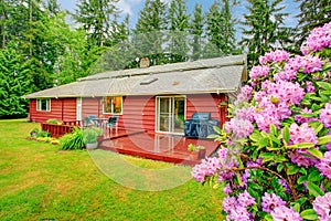
[(36, 99), (30, 99), (30, 120), (45, 123), (47, 119), (76, 120), (76, 98), (51, 98), (51, 110), (36, 110)]

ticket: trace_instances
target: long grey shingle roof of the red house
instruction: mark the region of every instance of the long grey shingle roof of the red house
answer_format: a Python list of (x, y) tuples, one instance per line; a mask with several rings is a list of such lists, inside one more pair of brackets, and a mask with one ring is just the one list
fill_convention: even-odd
[(228, 93), (237, 91), (243, 80), (246, 80), (246, 55), (234, 55), (105, 72), (24, 97)]

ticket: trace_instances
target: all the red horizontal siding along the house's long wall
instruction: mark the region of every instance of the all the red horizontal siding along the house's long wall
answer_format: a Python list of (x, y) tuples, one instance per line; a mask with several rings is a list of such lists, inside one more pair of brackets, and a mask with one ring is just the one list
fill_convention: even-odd
[[(148, 133), (156, 131), (156, 97), (157, 96), (127, 96), (122, 97), (122, 115), (119, 115), (118, 126), (132, 129), (145, 129)], [(186, 119), (194, 112), (210, 112), (213, 119), (220, 119), (221, 125), (226, 120), (226, 107), (220, 107), (220, 103), (226, 101), (224, 94), (194, 94), (186, 97)], [(102, 97), (82, 98), (82, 119), (88, 115), (109, 117), (103, 113)], [(51, 112), (36, 110), (36, 99), (30, 101), (30, 119), (45, 123), (56, 118), (62, 122), (76, 120), (76, 98), (52, 98)]]

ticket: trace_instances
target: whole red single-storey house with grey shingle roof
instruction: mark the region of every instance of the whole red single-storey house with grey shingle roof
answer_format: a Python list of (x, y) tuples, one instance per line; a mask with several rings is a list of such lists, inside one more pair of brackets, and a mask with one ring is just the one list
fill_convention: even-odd
[(118, 127), (184, 134), (184, 119), (209, 112), (225, 122), (227, 102), (246, 81), (246, 56), (234, 55), (111, 71), (25, 95), (30, 120), (82, 120), (118, 115)]

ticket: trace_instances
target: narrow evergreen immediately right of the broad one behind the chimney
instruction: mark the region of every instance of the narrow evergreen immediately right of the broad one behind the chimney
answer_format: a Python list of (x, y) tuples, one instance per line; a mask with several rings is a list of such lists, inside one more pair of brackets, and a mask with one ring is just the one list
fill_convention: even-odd
[(169, 8), (169, 52), (172, 62), (183, 62), (189, 53), (189, 20), (186, 0), (172, 0)]

